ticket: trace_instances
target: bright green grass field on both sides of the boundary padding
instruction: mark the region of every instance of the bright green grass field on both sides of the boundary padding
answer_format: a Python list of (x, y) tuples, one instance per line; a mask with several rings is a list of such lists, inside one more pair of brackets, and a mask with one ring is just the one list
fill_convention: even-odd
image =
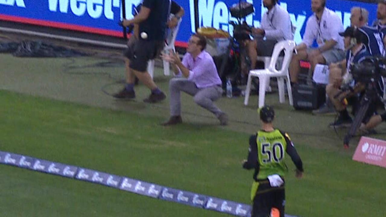
[[(3, 151), (97, 169), (249, 203), (252, 173), (242, 170), (248, 134), (215, 126), (161, 127), (130, 112), (0, 92)], [(383, 216), (383, 168), (351, 153), (297, 138), (305, 176), (288, 161), (288, 214)], [(315, 141), (317, 143), (317, 141)], [(1, 165), (2, 216), (220, 216), (113, 188)]]

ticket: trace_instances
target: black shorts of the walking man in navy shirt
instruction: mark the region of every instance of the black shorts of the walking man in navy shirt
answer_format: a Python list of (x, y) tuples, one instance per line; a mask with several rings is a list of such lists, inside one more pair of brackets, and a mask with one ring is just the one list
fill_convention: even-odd
[(129, 58), (131, 69), (146, 72), (147, 62), (159, 56), (164, 45), (164, 41), (135, 40), (135, 42), (129, 43), (124, 51), (124, 56)]

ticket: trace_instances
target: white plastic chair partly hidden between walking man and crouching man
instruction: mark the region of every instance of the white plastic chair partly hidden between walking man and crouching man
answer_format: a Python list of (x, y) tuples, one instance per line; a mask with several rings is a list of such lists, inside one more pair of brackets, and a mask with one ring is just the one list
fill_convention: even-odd
[[(165, 47), (163, 49), (165, 52), (169, 52), (171, 50), (176, 52), (176, 47), (174, 47), (174, 43), (176, 42), (176, 37), (178, 34), (179, 25), (181, 24), (181, 21), (182, 19), (179, 19), (177, 26), (174, 27), (174, 29), (170, 31), (170, 34), (168, 35), (168, 37), (166, 37)], [(151, 78), (154, 78), (154, 63), (155, 63), (154, 59), (151, 59), (149, 60), (149, 62), (147, 62), (147, 71), (149, 72)], [(164, 66), (164, 75), (170, 75), (169, 62), (163, 61), (163, 66)]]

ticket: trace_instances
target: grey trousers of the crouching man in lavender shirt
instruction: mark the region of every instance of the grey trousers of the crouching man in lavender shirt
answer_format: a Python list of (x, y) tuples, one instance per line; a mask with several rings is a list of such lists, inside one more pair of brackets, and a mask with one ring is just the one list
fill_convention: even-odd
[(219, 117), (223, 113), (213, 103), (222, 96), (223, 90), (220, 86), (197, 88), (193, 81), (189, 81), (186, 78), (173, 78), (169, 81), (171, 116), (181, 115), (181, 91), (194, 96), (195, 103), (209, 110), (215, 114), (216, 117)]

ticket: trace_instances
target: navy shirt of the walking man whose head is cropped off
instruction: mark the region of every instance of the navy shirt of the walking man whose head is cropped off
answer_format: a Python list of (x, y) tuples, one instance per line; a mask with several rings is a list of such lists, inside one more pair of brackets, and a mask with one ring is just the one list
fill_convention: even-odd
[(149, 8), (150, 14), (146, 20), (139, 24), (139, 32), (146, 32), (147, 40), (163, 41), (165, 39), (170, 4), (170, 0), (143, 0), (141, 8)]

